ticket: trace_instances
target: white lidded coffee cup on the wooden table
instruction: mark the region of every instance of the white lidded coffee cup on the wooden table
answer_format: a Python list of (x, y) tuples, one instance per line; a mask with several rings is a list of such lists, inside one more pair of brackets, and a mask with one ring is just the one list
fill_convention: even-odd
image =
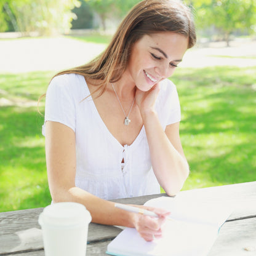
[(85, 256), (92, 217), (77, 202), (57, 202), (39, 215), (46, 256)]

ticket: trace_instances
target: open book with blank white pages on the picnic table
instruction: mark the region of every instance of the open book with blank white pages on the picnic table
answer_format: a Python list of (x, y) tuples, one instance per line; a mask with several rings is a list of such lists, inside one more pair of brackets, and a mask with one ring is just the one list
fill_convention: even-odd
[(218, 231), (231, 214), (230, 207), (215, 202), (188, 201), (160, 197), (145, 206), (171, 212), (173, 220), (162, 226), (162, 238), (146, 242), (135, 228), (126, 228), (108, 244), (106, 253), (119, 256), (205, 256), (214, 244)]

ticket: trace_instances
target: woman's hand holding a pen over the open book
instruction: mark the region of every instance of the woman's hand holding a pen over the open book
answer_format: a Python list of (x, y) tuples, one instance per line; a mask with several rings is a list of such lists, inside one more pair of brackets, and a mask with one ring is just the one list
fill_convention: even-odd
[(140, 207), (146, 210), (151, 210), (159, 216), (158, 218), (154, 218), (142, 214), (134, 214), (134, 226), (140, 236), (146, 241), (153, 241), (154, 238), (161, 238), (161, 227), (166, 221), (166, 217), (170, 215), (170, 212), (159, 208), (145, 206)]

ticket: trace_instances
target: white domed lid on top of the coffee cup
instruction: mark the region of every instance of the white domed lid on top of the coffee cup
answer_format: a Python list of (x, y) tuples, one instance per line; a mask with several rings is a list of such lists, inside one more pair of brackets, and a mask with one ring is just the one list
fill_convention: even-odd
[(46, 206), (39, 217), (40, 225), (88, 225), (92, 221), (90, 212), (78, 202), (57, 202)]

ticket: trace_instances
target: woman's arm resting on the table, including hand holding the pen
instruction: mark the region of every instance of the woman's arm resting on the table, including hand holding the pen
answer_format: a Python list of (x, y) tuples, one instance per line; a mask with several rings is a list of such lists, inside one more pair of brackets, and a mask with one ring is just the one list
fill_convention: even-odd
[[(161, 235), (161, 225), (169, 212), (151, 209), (160, 218), (134, 214), (75, 186), (76, 146), (74, 131), (60, 122), (46, 122), (46, 163), (50, 194), (54, 202), (79, 202), (92, 215), (92, 222), (137, 228), (147, 241)], [(148, 209), (148, 207), (147, 207)]]

